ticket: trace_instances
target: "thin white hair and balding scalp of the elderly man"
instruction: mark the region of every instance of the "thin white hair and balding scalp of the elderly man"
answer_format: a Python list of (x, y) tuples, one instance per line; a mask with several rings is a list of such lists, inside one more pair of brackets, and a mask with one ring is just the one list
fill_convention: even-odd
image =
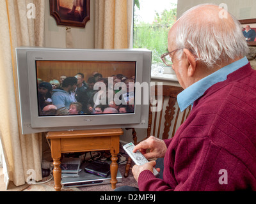
[(216, 18), (216, 10), (211, 13), (211, 8), (205, 7), (208, 9), (200, 10), (204, 15), (203, 22), (202, 15), (195, 15), (195, 10), (205, 5), (210, 4), (195, 6), (177, 20), (174, 31), (177, 48), (187, 48), (195, 55), (196, 60), (204, 62), (209, 68), (218, 62), (228, 62), (248, 54), (248, 45), (239, 21), (230, 14), (228, 18), (231, 17), (232, 20), (229, 21)]

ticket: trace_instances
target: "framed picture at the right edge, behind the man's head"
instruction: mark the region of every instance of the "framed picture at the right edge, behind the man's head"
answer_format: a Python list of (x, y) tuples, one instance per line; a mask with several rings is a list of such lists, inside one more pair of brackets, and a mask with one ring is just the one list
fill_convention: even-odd
[(256, 18), (239, 20), (244, 38), (250, 46), (256, 46)]

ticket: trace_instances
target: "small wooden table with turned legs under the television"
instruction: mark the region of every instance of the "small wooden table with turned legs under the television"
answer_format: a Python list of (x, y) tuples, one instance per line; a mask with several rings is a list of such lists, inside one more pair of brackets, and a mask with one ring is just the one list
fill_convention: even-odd
[(111, 185), (116, 188), (116, 175), (118, 164), (116, 163), (119, 153), (119, 136), (123, 135), (122, 129), (91, 129), (77, 131), (56, 131), (47, 133), (47, 139), (51, 140), (53, 159), (54, 189), (61, 191), (61, 153), (90, 152), (110, 150), (111, 153)]

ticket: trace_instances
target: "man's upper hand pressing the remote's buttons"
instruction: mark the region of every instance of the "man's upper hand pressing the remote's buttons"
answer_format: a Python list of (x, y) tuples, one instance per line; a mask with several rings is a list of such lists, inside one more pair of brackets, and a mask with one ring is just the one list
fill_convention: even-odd
[[(150, 152), (146, 153), (146, 150), (150, 149)], [(147, 140), (140, 142), (133, 149), (133, 152), (140, 150), (140, 152), (147, 158), (163, 158), (167, 147), (163, 140), (160, 140), (154, 136), (150, 136)]]

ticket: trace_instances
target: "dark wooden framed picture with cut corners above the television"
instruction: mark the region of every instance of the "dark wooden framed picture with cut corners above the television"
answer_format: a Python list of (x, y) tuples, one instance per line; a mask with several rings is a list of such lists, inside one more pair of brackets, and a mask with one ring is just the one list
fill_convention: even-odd
[(49, 0), (57, 25), (85, 27), (90, 20), (90, 0)]

